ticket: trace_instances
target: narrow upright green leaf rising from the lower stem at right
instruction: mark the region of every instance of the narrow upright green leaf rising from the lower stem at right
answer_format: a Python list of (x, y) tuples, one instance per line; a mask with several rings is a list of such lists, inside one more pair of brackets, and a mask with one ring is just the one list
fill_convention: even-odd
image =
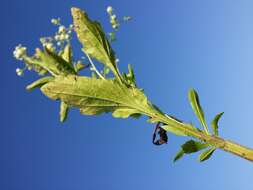
[(189, 93), (188, 93), (188, 98), (191, 103), (192, 109), (195, 112), (196, 116), (198, 117), (200, 123), (203, 125), (206, 133), (209, 133), (208, 127), (206, 124), (206, 120), (205, 120), (205, 116), (204, 116), (204, 112), (201, 108), (197, 92), (194, 89), (190, 89)]

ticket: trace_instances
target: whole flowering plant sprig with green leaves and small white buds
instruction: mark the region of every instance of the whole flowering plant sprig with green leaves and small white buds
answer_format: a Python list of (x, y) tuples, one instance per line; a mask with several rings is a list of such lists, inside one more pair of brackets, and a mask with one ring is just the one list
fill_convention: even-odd
[[(185, 154), (199, 151), (202, 151), (199, 160), (205, 161), (216, 149), (253, 161), (252, 149), (219, 136), (218, 121), (223, 112), (218, 113), (212, 120), (210, 132), (198, 94), (194, 89), (189, 90), (188, 98), (202, 128), (165, 114), (151, 103), (143, 89), (138, 88), (131, 65), (128, 65), (128, 73), (120, 72), (119, 60), (110, 45), (116, 40), (116, 32), (120, 26), (113, 11), (112, 7), (107, 8), (113, 29), (108, 35), (104, 33), (101, 25), (97, 21), (90, 20), (84, 11), (72, 8), (73, 25), (65, 27), (60, 23), (60, 19), (52, 19), (51, 22), (58, 26), (58, 31), (53, 37), (40, 39), (43, 49), (37, 48), (34, 55), (28, 56), (26, 47), (18, 45), (13, 54), (16, 59), (24, 62), (25, 67), (18, 68), (17, 74), (21, 76), (28, 69), (34, 70), (39, 75), (45, 75), (28, 85), (27, 89), (40, 88), (50, 99), (59, 100), (62, 122), (72, 107), (78, 108), (81, 114), (85, 115), (109, 112), (116, 118), (138, 118), (146, 115), (149, 123), (158, 123), (153, 135), (153, 142), (156, 145), (167, 142), (167, 132), (192, 137), (194, 140), (189, 140), (180, 147), (174, 161)], [(122, 20), (124, 22), (130, 19), (131, 17), (123, 17)], [(77, 34), (85, 55), (77, 61), (73, 59), (70, 44), (73, 31)], [(86, 59), (89, 62), (85, 64)], [(96, 68), (93, 59), (103, 64), (102, 71)], [(80, 71), (86, 68), (90, 69), (91, 76), (80, 75)], [(160, 136), (157, 141), (156, 132)]]

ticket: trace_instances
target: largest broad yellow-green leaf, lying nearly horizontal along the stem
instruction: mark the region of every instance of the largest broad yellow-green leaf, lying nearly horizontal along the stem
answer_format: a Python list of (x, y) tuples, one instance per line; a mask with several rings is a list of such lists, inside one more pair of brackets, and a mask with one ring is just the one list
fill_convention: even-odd
[(146, 96), (137, 88), (128, 88), (114, 80), (58, 76), (41, 88), (51, 99), (79, 107), (81, 113), (98, 115), (112, 112), (115, 117), (152, 112)]

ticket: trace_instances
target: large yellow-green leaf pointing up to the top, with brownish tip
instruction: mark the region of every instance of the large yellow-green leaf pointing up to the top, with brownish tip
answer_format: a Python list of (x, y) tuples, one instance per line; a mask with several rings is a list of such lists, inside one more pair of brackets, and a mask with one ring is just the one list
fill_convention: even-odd
[(91, 21), (88, 15), (79, 8), (71, 8), (71, 13), (77, 37), (83, 45), (83, 51), (109, 67), (121, 81), (115, 62), (115, 54), (101, 25), (96, 21)]

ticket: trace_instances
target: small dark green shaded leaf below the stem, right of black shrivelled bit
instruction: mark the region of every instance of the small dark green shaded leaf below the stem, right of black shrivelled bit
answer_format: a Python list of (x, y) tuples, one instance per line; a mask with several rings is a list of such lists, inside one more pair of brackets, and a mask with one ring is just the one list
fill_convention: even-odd
[(205, 149), (208, 146), (209, 145), (206, 143), (201, 143), (198, 141), (189, 140), (186, 143), (184, 143), (183, 145), (181, 145), (181, 148), (184, 151), (184, 153), (190, 154), (190, 153), (198, 152), (202, 149)]

